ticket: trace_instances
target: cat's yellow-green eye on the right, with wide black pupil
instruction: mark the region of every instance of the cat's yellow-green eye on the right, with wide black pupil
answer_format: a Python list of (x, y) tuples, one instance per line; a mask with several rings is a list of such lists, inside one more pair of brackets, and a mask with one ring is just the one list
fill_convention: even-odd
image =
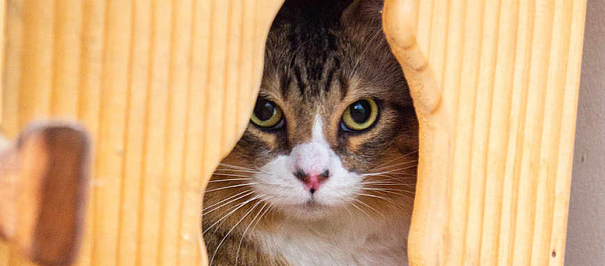
[(376, 101), (365, 98), (352, 103), (345, 113), (340, 126), (345, 131), (363, 131), (376, 122), (378, 105)]

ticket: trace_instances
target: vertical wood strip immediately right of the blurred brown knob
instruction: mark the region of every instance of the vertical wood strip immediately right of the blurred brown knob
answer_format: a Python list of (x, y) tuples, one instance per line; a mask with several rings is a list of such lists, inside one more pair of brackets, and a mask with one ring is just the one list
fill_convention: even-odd
[(116, 265), (123, 172), (130, 4), (108, 1), (101, 69), (92, 264)]

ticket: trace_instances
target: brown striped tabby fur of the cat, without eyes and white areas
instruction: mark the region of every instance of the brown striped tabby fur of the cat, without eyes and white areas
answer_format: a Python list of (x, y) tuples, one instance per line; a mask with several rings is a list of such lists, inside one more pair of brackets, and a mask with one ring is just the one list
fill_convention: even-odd
[[(418, 123), (407, 83), (382, 32), (382, 1), (350, 2), (288, 0), (276, 16), (259, 97), (281, 107), (285, 126), (267, 131), (250, 123), (212, 176), (203, 201), (203, 236), (212, 266), (233, 266), (236, 260), (237, 265), (288, 265), (281, 256), (264, 253), (255, 237), (280, 226), (287, 215), (253, 199), (247, 183), (253, 182), (252, 172), (310, 140), (315, 113), (322, 114), (324, 137), (346, 169), (359, 174), (397, 170), (367, 181), (389, 180), (396, 184), (388, 189), (405, 192), (367, 185), (366, 193), (378, 197), (358, 199), (380, 214), (361, 208), (376, 219), (392, 212), (411, 215)], [(378, 121), (362, 133), (343, 131), (345, 108), (364, 97), (376, 99)]]

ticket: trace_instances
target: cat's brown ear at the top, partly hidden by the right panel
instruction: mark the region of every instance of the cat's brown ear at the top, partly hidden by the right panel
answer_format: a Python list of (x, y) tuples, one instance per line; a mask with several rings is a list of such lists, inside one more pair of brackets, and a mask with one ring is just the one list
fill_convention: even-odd
[(384, 0), (355, 0), (343, 12), (340, 18), (345, 28), (376, 26), (381, 23)]

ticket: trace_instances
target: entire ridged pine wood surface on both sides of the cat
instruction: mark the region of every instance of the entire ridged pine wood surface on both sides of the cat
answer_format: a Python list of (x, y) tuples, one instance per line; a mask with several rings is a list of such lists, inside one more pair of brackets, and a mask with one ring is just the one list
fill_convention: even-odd
[[(204, 265), (204, 179), (249, 119), (281, 1), (4, 2), (1, 132), (58, 117), (91, 133), (75, 265)], [(387, 3), (391, 45), (418, 44), (400, 62), (427, 63), (406, 71), (416, 265), (563, 265), (586, 0)], [(0, 244), (9, 265), (31, 264)]]

